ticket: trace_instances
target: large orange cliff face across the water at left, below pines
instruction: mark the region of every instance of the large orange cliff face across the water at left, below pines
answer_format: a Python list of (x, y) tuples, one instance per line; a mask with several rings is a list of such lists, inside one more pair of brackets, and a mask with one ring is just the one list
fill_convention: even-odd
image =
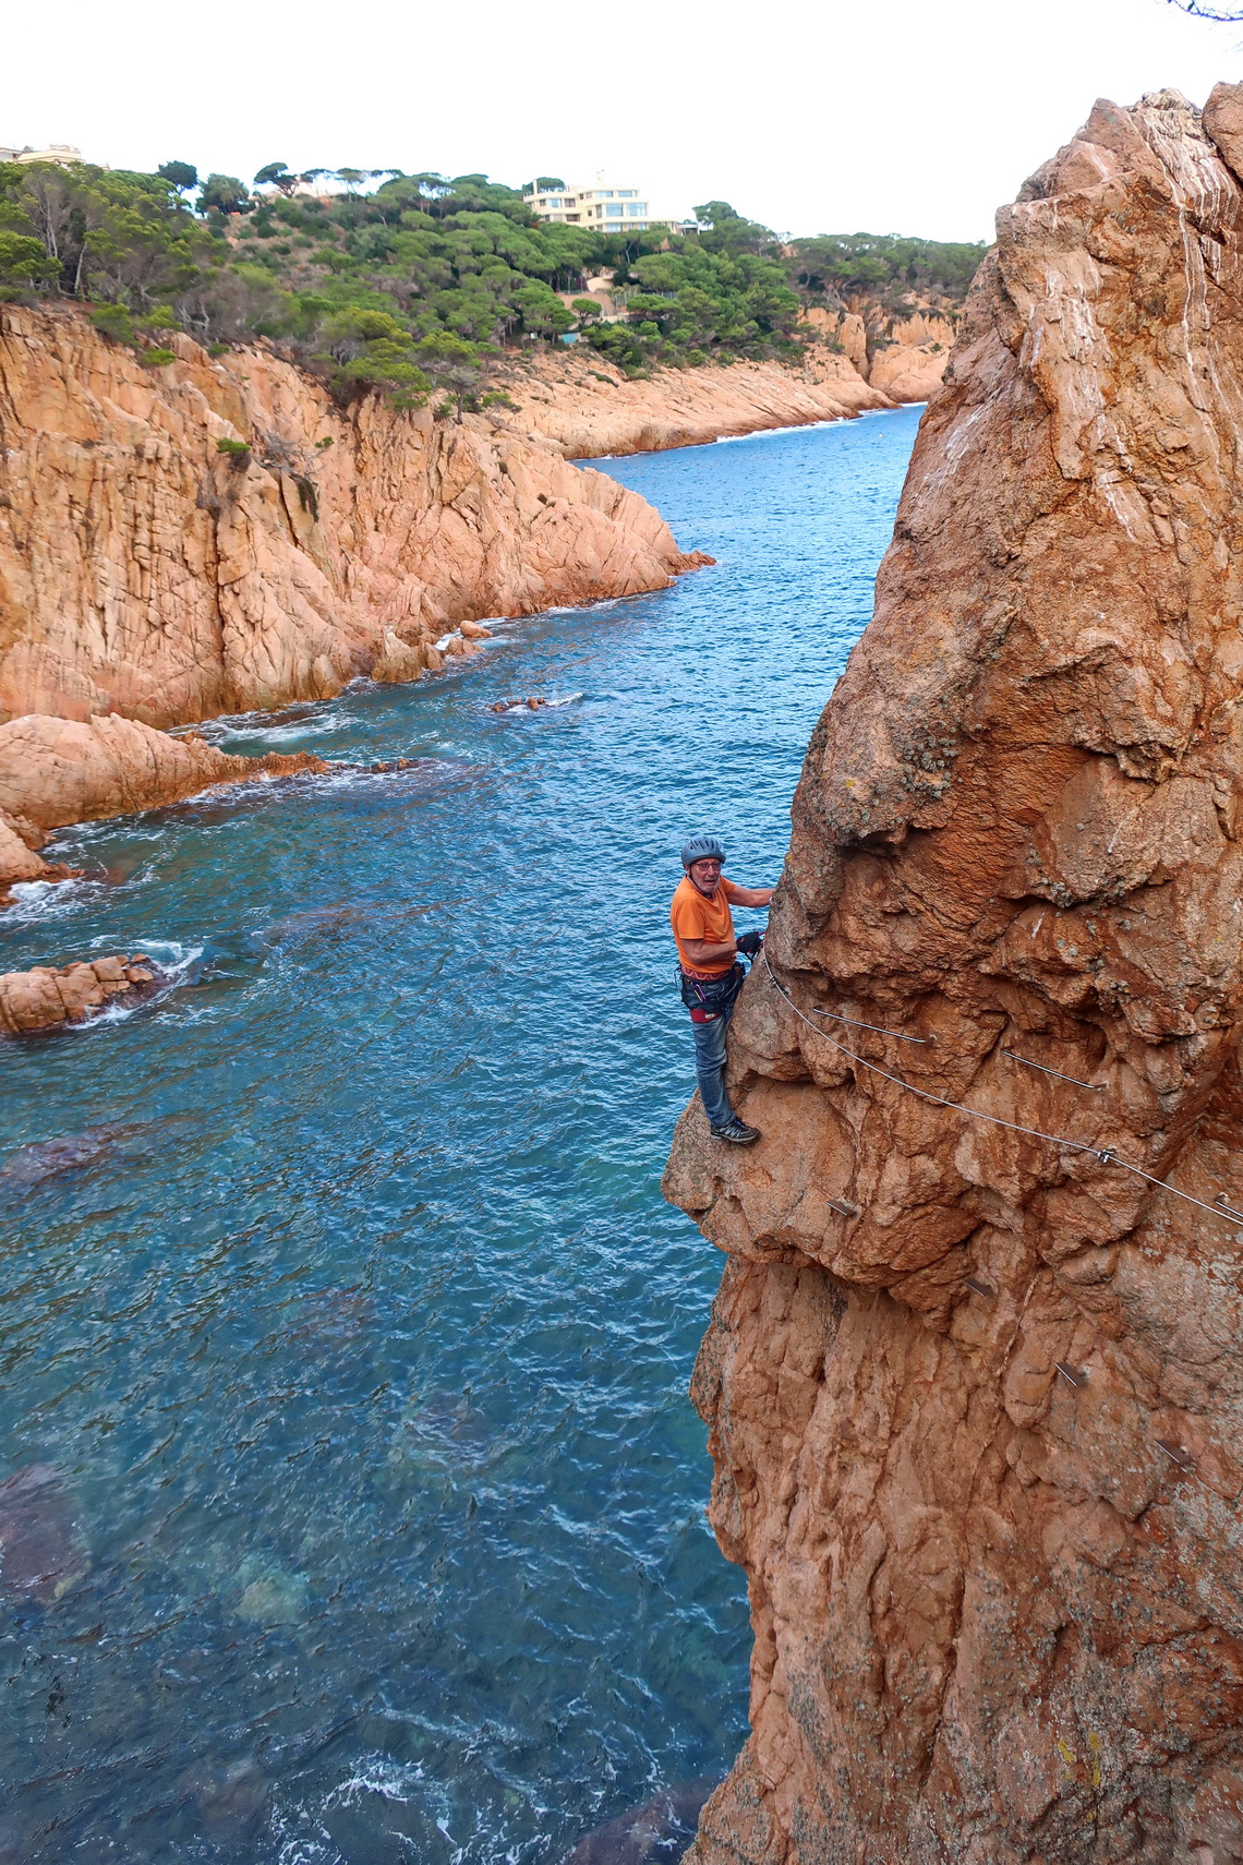
[(462, 619), (703, 561), (544, 444), (376, 397), (343, 414), (265, 349), (170, 343), (149, 369), (73, 311), (0, 308), (0, 720), (330, 698), (438, 666)]

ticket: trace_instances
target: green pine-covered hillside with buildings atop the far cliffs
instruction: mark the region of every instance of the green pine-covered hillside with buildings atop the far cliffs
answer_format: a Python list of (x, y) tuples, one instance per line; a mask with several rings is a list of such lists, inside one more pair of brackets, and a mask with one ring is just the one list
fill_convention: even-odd
[[(727, 201), (697, 207), (701, 229), (684, 237), (609, 235), (540, 226), (486, 175), (337, 170), (343, 192), (294, 192), (311, 177), (272, 162), (252, 192), (229, 175), (199, 183), (186, 162), (155, 175), (0, 164), (0, 297), (76, 298), (153, 366), (171, 360), (177, 328), (216, 352), (268, 338), (341, 399), (436, 394), (460, 418), (503, 399), (488, 373), (507, 347), (578, 332), (628, 375), (792, 358), (811, 341), (807, 304), (958, 304), (984, 252), (874, 235), (786, 248)], [(617, 319), (587, 297), (598, 274)], [(580, 297), (570, 308), (559, 293)]]

